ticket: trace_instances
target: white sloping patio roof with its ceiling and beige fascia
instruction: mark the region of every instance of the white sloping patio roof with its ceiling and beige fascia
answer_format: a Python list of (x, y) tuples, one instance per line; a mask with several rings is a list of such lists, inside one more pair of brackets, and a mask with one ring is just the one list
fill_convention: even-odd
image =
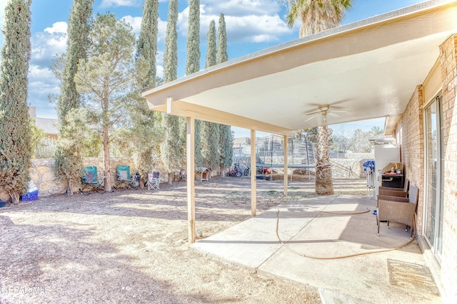
[[(395, 117), (457, 33), (457, 1), (427, 1), (236, 58), (146, 91), (152, 110), (290, 135), (322, 124)], [(167, 103), (168, 100), (168, 103)]]

